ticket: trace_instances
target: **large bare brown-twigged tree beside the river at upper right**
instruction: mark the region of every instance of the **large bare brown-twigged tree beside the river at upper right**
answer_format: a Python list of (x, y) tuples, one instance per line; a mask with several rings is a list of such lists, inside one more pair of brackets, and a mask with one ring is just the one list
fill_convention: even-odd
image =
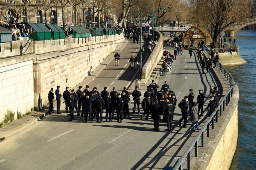
[[(192, 0), (193, 20), (209, 30), (212, 48), (220, 47), (225, 30), (249, 22), (251, 6), (247, 0)], [(203, 4), (203, 5), (202, 5)]]

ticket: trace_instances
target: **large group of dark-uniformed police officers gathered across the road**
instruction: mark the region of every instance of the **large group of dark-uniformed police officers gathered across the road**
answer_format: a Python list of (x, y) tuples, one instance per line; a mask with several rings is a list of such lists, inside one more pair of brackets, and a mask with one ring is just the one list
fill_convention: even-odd
[[(131, 119), (129, 112), (130, 95), (126, 87), (123, 88), (122, 93), (118, 93), (115, 87), (113, 87), (110, 93), (108, 93), (107, 87), (104, 87), (101, 93), (97, 91), (97, 87), (93, 87), (91, 91), (89, 91), (89, 88), (90, 87), (86, 85), (86, 88), (82, 91), (82, 86), (79, 86), (76, 92), (73, 89), (70, 93), (69, 87), (66, 87), (66, 90), (63, 92), (63, 98), (65, 102), (66, 112), (68, 112), (69, 109), (69, 121), (74, 120), (74, 109), (76, 109), (77, 112), (76, 116), (80, 116), (81, 113), (81, 118), (85, 119), (85, 123), (92, 123), (95, 118), (98, 123), (101, 123), (103, 121), (103, 109), (105, 109), (106, 112), (105, 121), (110, 122), (113, 120), (114, 111), (116, 111), (118, 123), (122, 123), (123, 118), (128, 117), (128, 119)], [(151, 118), (154, 119), (154, 129), (156, 131), (159, 131), (159, 122), (162, 115), (164, 121), (166, 121), (167, 124), (166, 130), (171, 131), (177, 98), (175, 92), (169, 89), (167, 81), (165, 81), (165, 83), (162, 85), (161, 90), (157, 91), (158, 88), (159, 86), (155, 83), (155, 80), (152, 80), (152, 83), (147, 86), (147, 91), (144, 93), (144, 99), (141, 102), (141, 107), (143, 108), (144, 112), (143, 114), (140, 114), (140, 97), (142, 96), (142, 94), (138, 90), (138, 86), (135, 87), (135, 90), (132, 92), (133, 114), (135, 114), (136, 107), (141, 120), (144, 116), (145, 120), (148, 120), (149, 114), (151, 113)], [(51, 91), (49, 92), (50, 95), (48, 95), (48, 97), (53, 96), (52, 90), (53, 89), (51, 89)], [(186, 124), (188, 115), (192, 114), (192, 103), (194, 100), (193, 89), (190, 89), (189, 91), (190, 93), (188, 94), (188, 96), (185, 96), (184, 99), (178, 104), (178, 107), (181, 109), (182, 113), (182, 118), (178, 121), (178, 125), (181, 126), (181, 122), (184, 120), (184, 128), (187, 127)], [(205, 106), (204, 94), (203, 90), (198, 91), (198, 113), (199, 111), (201, 111), (201, 114), (199, 116), (202, 116), (203, 106)], [(207, 105), (207, 111), (209, 111), (209, 115), (211, 115), (216, 110), (219, 101), (219, 92), (217, 87), (212, 87), (210, 92), (212, 93), (212, 96), (210, 96), (210, 101)], [(59, 86), (57, 86), (55, 95), (58, 99), (57, 113), (60, 113), (59, 106), (61, 95), (59, 92)]]

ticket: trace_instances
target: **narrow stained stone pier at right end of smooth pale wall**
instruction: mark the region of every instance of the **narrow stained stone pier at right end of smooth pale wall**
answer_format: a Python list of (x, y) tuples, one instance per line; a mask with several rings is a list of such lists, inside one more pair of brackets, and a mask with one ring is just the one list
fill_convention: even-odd
[(33, 75), (34, 75), (34, 110), (38, 111), (41, 106), (41, 66), (40, 61), (33, 62)]

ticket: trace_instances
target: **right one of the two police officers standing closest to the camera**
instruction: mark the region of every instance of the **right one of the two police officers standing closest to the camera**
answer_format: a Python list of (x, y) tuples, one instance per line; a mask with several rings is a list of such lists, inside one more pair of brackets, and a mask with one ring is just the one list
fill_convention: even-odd
[(174, 113), (175, 105), (168, 98), (165, 99), (165, 104), (162, 107), (163, 114), (166, 115), (167, 131), (172, 130), (172, 114)]

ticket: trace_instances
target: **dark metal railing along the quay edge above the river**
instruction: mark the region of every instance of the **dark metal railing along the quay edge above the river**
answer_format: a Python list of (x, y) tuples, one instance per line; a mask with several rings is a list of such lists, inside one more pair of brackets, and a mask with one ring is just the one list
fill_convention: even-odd
[[(210, 51), (209, 49), (207, 49), (207, 47), (206, 47), (206, 51), (210, 55)], [(198, 157), (198, 146), (201, 145), (201, 147), (204, 147), (204, 138), (210, 137), (210, 130), (214, 129), (214, 123), (218, 123), (218, 115), (220, 117), (222, 116), (222, 112), (225, 111), (225, 106), (228, 106), (231, 100), (231, 97), (233, 97), (235, 82), (232, 75), (219, 62), (218, 62), (218, 68), (222, 71), (224, 76), (229, 81), (230, 88), (226, 93), (226, 95), (219, 102), (219, 106), (217, 107), (217, 109), (212, 113), (212, 115), (209, 117), (209, 119), (206, 121), (206, 123), (202, 127), (201, 131), (198, 132), (197, 136), (194, 138), (190, 146), (182, 155), (179, 162), (174, 166), (174, 170), (183, 170), (183, 169), (190, 170), (191, 169), (190, 158)]]

